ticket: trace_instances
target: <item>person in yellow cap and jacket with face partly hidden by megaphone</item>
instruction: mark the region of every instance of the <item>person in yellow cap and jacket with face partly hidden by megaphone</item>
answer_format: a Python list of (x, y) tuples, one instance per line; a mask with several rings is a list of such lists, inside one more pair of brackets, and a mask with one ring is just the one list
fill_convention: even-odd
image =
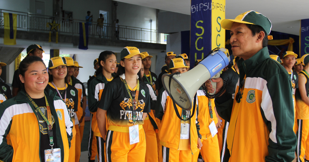
[[(175, 58), (171, 60), (169, 68), (171, 73), (179, 72), (181, 74), (187, 72), (188, 66), (186, 66), (182, 58)], [(198, 148), (202, 147), (201, 139), (198, 137), (197, 111), (194, 112), (190, 120), (180, 120), (166, 91), (163, 92), (161, 100), (158, 100), (157, 103), (161, 104), (159, 104), (156, 111), (156, 117), (162, 120), (159, 129), (159, 139), (162, 145), (160, 153), (162, 152), (162, 156), (160, 156), (159, 161), (192, 161), (192, 155), (197, 152)], [(178, 106), (177, 110), (184, 120), (193, 113), (193, 109), (185, 111)]]

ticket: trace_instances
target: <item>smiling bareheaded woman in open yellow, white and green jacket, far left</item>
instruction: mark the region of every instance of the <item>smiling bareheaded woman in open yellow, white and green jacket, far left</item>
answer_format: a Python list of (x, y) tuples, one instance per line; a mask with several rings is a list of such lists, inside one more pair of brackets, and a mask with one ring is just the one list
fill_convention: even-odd
[(23, 89), (0, 105), (0, 160), (43, 162), (44, 150), (60, 148), (61, 161), (67, 162), (73, 123), (61, 98), (44, 91), (49, 76), (43, 60), (26, 57), (19, 78)]

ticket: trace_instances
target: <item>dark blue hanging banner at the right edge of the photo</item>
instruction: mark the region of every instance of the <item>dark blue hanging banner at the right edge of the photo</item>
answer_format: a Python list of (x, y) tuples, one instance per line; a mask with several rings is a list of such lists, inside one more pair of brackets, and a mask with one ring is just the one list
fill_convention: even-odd
[(309, 54), (309, 19), (300, 20), (299, 57)]

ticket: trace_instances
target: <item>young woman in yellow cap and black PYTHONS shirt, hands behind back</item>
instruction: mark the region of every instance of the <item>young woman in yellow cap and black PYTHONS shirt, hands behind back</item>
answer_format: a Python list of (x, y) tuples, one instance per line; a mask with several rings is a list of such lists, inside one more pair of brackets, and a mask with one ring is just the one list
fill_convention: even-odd
[(146, 139), (142, 125), (150, 112), (150, 95), (147, 85), (138, 79), (142, 56), (138, 48), (125, 47), (121, 51), (117, 77), (102, 93), (96, 116), (101, 134), (106, 135), (108, 162), (145, 161)]

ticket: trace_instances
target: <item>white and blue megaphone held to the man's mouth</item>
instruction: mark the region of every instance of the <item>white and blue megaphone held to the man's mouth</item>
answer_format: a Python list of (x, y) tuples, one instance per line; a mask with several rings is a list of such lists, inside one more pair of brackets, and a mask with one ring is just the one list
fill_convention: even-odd
[[(230, 54), (226, 48), (214, 50), (190, 71), (171, 76), (171, 82), (169, 74), (163, 74), (163, 87), (167, 94), (170, 97), (172, 96), (171, 98), (174, 99), (173, 102), (180, 108), (191, 110), (192, 101), (197, 90), (208, 79), (218, 77), (219, 75), (217, 74), (220, 74), (220, 71), (224, 69), (229, 62)], [(214, 89), (216, 90), (215, 87)]]

